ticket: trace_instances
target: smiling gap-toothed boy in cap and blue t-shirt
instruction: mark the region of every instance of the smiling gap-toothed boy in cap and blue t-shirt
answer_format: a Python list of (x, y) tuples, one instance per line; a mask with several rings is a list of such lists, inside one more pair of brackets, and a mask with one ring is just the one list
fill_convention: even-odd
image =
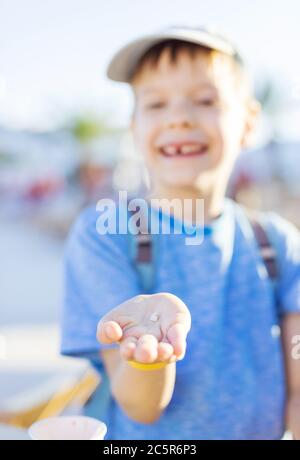
[[(121, 49), (108, 76), (133, 89), (148, 202), (177, 199), (178, 223), (178, 203), (203, 199), (204, 227), (192, 212), (184, 224), (205, 236), (186, 245), (184, 234), (157, 235), (145, 294), (128, 235), (99, 235), (99, 213), (84, 211), (66, 247), (62, 352), (97, 352), (110, 439), (279, 439), (286, 428), (299, 439), (299, 233), (263, 216), (274, 288), (248, 216), (224, 198), (259, 109), (239, 54), (214, 32), (174, 27)], [(159, 215), (170, 217), (166, 204)]]

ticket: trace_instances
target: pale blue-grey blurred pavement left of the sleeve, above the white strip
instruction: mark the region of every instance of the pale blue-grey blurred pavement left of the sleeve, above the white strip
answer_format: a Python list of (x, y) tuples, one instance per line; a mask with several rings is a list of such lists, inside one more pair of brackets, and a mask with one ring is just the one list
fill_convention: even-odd
[(0, 254), (0, 334), (7, 325), (56, 323), (63, 242), (25, 220), (0, 219)]

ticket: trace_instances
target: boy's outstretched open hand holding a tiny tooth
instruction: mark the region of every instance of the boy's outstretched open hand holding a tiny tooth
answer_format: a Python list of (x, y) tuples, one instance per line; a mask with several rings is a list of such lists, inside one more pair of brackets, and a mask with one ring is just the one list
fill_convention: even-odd
[(179, 297), (169, 293), (139, 295), (111, 310), (98, 324), (102, 344), (119, 343), (126, 360), (172, 362), (185, 355), (191, 315)]

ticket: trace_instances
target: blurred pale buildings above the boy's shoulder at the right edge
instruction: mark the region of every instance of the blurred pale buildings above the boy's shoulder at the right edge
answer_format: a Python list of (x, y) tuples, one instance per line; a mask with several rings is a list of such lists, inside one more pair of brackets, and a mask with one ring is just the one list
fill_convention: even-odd
[(300, 143), (272, 141), (243, 152), (229, 195), (251, 208), (276, 211), (300, 228)]

